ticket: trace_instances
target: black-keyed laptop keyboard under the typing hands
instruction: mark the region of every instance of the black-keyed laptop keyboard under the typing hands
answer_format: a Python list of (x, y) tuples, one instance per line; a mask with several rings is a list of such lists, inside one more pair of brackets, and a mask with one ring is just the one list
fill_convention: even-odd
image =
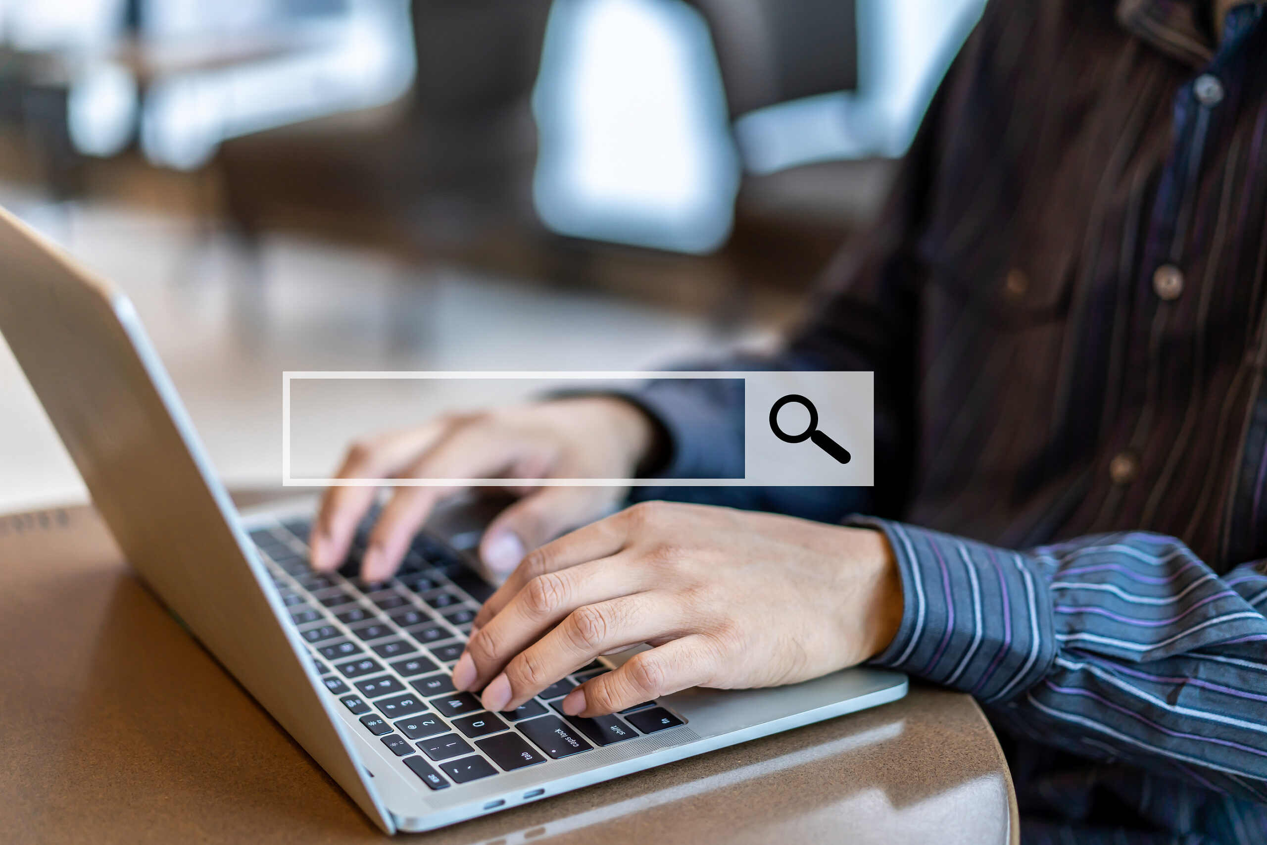
[[(397, 576), (362, 584), (367, 528), (338, 573), (308, 566), (307, 519), (251, 532), (290, 622), (308, 641), (327, 692), (431, 789), (545, 765), (682, 725), (656, 702), (618, 716), (563, 713), (563, 698), (611, 666), (594, 660), (507, 713), (489, 713), (450, 678), (481, 602), (493, 594), (450, 546), (414, 540)], [(547, 778), (549, 773), (542, 772)]]

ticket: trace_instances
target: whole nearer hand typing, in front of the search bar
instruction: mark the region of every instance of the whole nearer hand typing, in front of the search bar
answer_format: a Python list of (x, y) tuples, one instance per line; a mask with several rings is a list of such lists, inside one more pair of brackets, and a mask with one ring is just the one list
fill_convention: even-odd
[(651, 502), (525, 557), (476, 617), (454, 685), (508, 711), (598, 655), (654, 646), (564, 699), (599, 716), (688, 687), (817, 678), (881, 652), (901, 618), (878, 531)]

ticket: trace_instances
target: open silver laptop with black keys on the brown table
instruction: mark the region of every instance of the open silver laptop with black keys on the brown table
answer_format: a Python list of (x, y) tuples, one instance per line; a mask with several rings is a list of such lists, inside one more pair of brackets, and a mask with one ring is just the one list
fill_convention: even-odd
[(388, 834), (426, 831), (906, 694), (854, 668), (754, 690), (687, 689), (584, 720), (559, 703), (599, 658), (509, 713), (450, 671), (492, 588), (419, 533), (386, 584), (307, 564), (313, 502), (239, 513), (132, 304), (0, 210), (0, 332), (136, 573)]

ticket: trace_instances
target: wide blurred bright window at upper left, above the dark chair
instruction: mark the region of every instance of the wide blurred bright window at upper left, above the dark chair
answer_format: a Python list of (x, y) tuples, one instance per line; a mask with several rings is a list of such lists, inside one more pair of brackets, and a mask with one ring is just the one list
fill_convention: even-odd
[[(142, 149), (189, 170), (227, 138), (394, 100), (413, 81), (408, 14), (408, 0), (147, 0), (143, 32), (160, 68), (165, 46), (172, 65), (204, 51), (208, 67), (160, 70)], [(213, 61), (233, 51), (241, 61)]]

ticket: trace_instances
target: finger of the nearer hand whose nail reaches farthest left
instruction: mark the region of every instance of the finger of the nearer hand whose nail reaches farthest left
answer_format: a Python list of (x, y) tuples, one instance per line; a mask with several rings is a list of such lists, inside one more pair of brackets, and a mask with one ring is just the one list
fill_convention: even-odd
[(620, 557), (606, 557), (533, 578), (488, 625), (471, 628), (454, 666), (454, 685), (481, 689), (512, 658), (578, 608), (645, 590), (644, 571)]

